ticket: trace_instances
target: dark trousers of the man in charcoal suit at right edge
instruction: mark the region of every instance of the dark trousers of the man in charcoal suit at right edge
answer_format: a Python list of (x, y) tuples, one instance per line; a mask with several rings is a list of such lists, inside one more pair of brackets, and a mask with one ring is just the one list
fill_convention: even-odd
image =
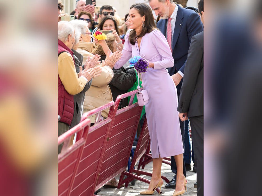
[(204, 195), (204, 116), (190, 117), (196, 161), (197, 196)]

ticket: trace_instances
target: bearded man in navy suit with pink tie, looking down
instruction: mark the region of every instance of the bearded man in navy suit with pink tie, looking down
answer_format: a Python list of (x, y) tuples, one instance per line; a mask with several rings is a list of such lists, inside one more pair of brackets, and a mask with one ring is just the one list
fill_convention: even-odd
[[(183, 82), (185, 62), (187, 61), (188, 50), (191, 42), (191, 38), (204, 30), (203, 24), (199, 15), (189, 9), (184, 9), (176, 5), (173, 0), (149, 0), (150, 7), (155, 11), (156, 15), (162, 17), (157, 23), (157, 28), (167, 38), (167, 27), (171, 23), (172, 39), (170, 46), (172, 48), (172, 55), (174, 58), (174, 66), (168, 68), (168, 73), (174, 80), (177, 86), (177, 95), (179, 100), (180, 89)], [(171, 19), (169, 19), (171, 18)], [(169, 19), (169, 20), (168, 20)], [(170, 21), (170, 23), (168, 23)], [(168, 39), (167, 39), (168, 41)], [(184, 127), (185, 123), (180, 122), (181, 135), (184, 145)], [(177, 167), (175, 158), (171, 157), (171, 169), (176, 174)], [(184, 162), (184, 161), (183, 161)], [(183, 171), (185, 175), (185, 163), (183, 163)], [(176, 187), (176, 175), (173, 179), (166, 184), (166, 188)]]

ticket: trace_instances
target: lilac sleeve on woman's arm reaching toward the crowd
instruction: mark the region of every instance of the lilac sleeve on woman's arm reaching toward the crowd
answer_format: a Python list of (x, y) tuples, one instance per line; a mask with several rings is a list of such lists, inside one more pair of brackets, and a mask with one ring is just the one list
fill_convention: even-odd
[(132, 46), (129, 42), (129, 33), (125, 35), (125, 44), (124, 48), (122, 50), (122, 57), (119, 59), (116, 64), (114, 65), (114, 68), (117, 70), (120, 67), (122, 67), (131, 57), (132, 57)]

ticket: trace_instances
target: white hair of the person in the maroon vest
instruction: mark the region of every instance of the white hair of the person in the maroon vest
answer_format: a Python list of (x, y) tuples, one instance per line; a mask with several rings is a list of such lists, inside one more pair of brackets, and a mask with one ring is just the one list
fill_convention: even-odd
[(68, 21), (58, 22), (58, 39), (62, 42), (65, 42), (68, 39), (69, 35), (74, 34), (74, 27)]

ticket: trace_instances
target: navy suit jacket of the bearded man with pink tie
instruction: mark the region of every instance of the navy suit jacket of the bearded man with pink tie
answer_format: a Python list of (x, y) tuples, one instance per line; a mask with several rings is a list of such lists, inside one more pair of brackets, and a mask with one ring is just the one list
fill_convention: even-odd
[[(191, 38), (204, 30), (200, 16), (195, 11), (177, 6), (178, 11), (172, 42), (174, 66), (168, 68), (170, 76), (178, 70), (184, 73)], [(157, 22), (157, 28), (166, 36), (167, 19), (161, 19)], [(177, 85), (178, 94), (180, 94), (182, 81), (183, 79)]]

